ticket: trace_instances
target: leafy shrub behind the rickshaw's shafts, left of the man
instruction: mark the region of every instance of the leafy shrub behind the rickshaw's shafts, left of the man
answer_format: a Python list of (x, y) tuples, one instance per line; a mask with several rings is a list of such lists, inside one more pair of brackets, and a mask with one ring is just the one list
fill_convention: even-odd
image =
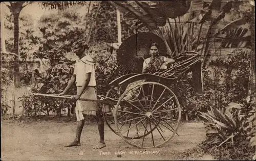
[[(36, 85), (32, 88), (32, 92), (59, 94), (68, 85), (73, 71), (74, 68), (67, 64), (56, 65), (43, 73), (39, 73), (38, 70), (35, 70), (34, 75)], [(75, 86), (71, 88), (70, 94), (75, 94)], [(66, 100), (56, 99), (53, 97), (34, 97), (32, 95), (23, 95), (22, 97), (19, 97), (19, 99), (22, 102), (22, 106), (27, 117), (41, 114), (50, 115), (50, 112), (60, 116), (62, 109), (67, 107), (70, 108), (70, 106), (74, 105), (74, 102), (68, 102)]]

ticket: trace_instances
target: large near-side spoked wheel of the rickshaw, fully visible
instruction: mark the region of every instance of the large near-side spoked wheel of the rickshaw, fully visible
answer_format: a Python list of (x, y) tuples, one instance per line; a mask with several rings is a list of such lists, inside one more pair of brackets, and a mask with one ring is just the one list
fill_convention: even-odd
[[(136, 95), (134, 89), (138, 86), (142, 87), (143, 90), (139, 95)], [(156, 88), (158, 90), (156, 90)], [(129, 91), (134, 93), (137, 99), (136, 105), (134, 104), (135, 102), (129, 102), (129, 100), (124, 99)], [(154, 95), (156, 95), (156, 97)], [(122, 106), (124, 102), (125, 104), (130, 104), (127, 109), (120, 110), (120, 108), (117, 108), (118, 106)], [(120, 96), (117, 107), (115, 108), (114, 119), (118, 135), (126, 143), (134, 147), (159, 147), (172, 139), (177, 133), (181, 119), (179, 101), (172, 90), (160, 83), (144, 82), (127, 89)], [(127, 116), (125, 121), (119, 121), (118, 112), (130, 114), (132, 117)], [(130, 126), (131, 121), (135, 120), (137, 123)], [(123, 123), (127, 124), (124, 128), (122, 128)], [(131, 136), (128, 136), (129, 132)], [(139, 137), (138, 133), (140, 133), (142, 137)], [(129, 139), (124, 137), (124, 134), (127, 134)], [(138, 136), (137, 139), (135, 139), (136, 135)]]

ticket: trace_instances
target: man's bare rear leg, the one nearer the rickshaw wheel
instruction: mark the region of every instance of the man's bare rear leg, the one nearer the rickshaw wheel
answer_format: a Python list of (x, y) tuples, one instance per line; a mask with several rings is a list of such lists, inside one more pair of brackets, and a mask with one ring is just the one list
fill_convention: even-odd
[(104, 119), (101, 111), (96, 111), (96, 120), (98, 123), (98, 130), (99, 130), (99, 143), (94, 146), (94, 149), (101, 149), (106, 146), (104, 141)]

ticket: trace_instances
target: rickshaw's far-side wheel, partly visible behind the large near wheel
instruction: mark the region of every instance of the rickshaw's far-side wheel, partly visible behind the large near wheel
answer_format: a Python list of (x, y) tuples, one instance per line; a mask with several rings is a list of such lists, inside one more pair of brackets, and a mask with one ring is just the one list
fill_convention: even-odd
[[(116, 93), (115, 91), (115, 88), (117, 87), (111, 87), (111, 89), (106, 93), (105, 97), (110, 97), (110, 98), (115, 98), (115, 99), (119, 99), (119, 97), (117, 96), (118, 94)], [(117, 98), (118, 97), (118, 98)], [(109, 104), (103, 104), (103, 106), (110, 106), (110, 111), (111, 110), (114, 110), (115, 111), (115, 107), (112, 105), (109, 105)], [(116, 135), (119, 135), (118, 132), (114, 129), (115, 128), (115, 119), (114, 119), (114, 116), (112, 114), (112, 112), (106, 112), (105, 109), (103, 108), (102, 109), (102, 112), (103, 112), (103, 118), (105, 120), (105, 123), (106, 125), (109, 126), (109, 128), (116, 134)], [(121, 116), (122, 117), (122, 116)], [(156, 127), (153, 128), (153, 130), (155, 129)], [(145, 136), (149, 135), (151, 133), (151, 131), (148, 131), (147, 133), (145, 133)], [(125, 139), (132, 139), (132, 137), (126, 137), (126, 136), (123, 136)], [(143, 136), (139, 136), (139, 137), (135, 137), (134, 139), (140, 139), (142, 138)]]

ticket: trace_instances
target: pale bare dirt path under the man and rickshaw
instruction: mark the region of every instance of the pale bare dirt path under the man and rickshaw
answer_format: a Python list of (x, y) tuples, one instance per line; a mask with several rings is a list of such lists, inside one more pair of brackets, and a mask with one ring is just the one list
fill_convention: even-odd
[[(2, 122), (2, 160), (174, 160), (182, 152), (194, 148), (205, 140), (205, 128), (202, 123), (181, 123), (175, 136), (160, 148), (146, 149), (158, 154), (140, 154), (145, 149), (128, 146), (109, 127), (105, 127), (106, 147), (92, 149), (98, 142), (98, 129), (94, 123), (84, 126), (79, 147), (66, 148), (75, 137), (76, 122), (37, 121), (33, 123)], [(125, 154), (117, 157), (115, 152)], [(103, 152), (109, 152), (103, 155)], [(128, 154), (129, 152), (133, 154)], [(83, 152), (80, 156), (79, 153)]]

